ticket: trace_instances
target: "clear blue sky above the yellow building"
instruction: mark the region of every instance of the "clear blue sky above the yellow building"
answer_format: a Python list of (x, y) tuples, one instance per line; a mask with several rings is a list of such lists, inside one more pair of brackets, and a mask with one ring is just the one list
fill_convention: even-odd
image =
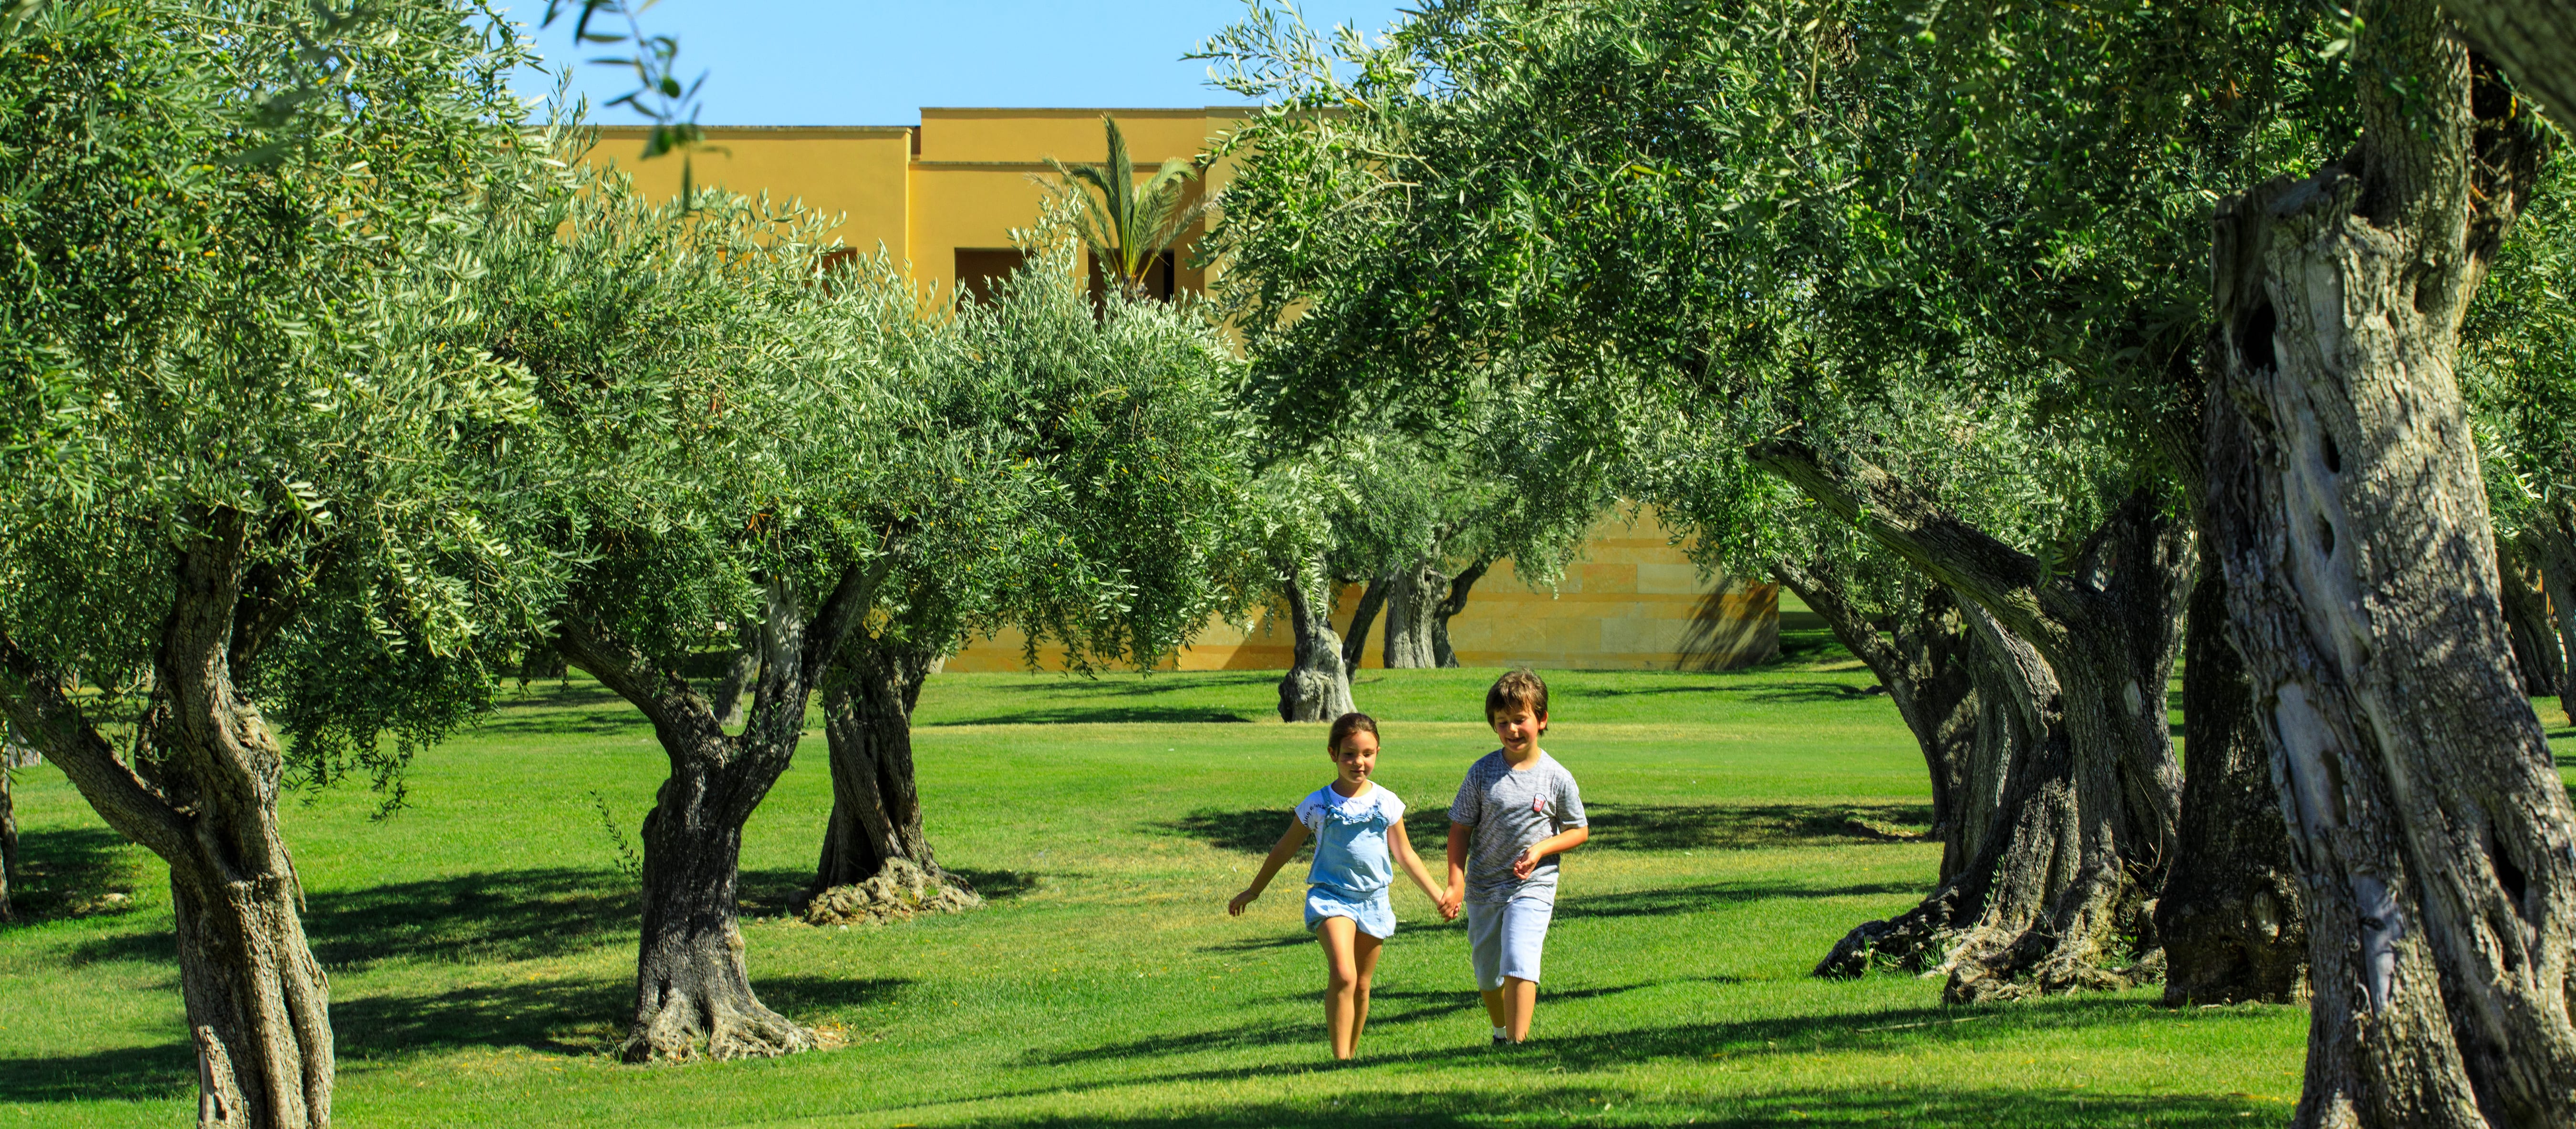
[[(531, 28), (544, 0), (502, 5)], [(577, 10), (580, 3), (572, 0)], [(1401, 0), (1306, 0), (1306, 23), (1386, 28)], [(647, 33), (680, 39), (680, 75), (706, 72), (708, 126), (912, 126), (922, 105), (1234, 105), (1182, 62), (1242, 0), (662, 0)], [(572, 21), (536, 31), (549, 67), (616, 54), (574, 46)], [(520, 93), (544, 95), (531, 75)], [(600, 105), (634, 72), (577, 67), (574, 90)], [(598, 123), (641, 121), (626, 108)]]

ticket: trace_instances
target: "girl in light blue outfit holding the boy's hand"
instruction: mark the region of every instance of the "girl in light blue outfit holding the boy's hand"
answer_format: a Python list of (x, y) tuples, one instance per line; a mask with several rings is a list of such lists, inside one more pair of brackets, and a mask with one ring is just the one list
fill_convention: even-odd
[(1262, 859), (1262, 872), (1234, 895), (1226, 913), (1242, 916), (1306, 836), (1316, 836), (1314, 867), (1306, 872), (1306, 928), (1324, 939), (1324, 1026), (1332, 1029), (1332, 1057), (1347, 1060), (1368, 1026), (1368, 977), (1378, 970), (1378, 946), (1396, 931), (1396, 908), (1386, 895), (1394, 880), (1388, 854), (1440, 905), (1443, 918), (1458, 910), (1404, 838), (1404, 800), (1368, 779), (1378, 772), (1378, 723), (1365, 712), (1345, 712), (1332, 723), (1324, 754), (1340, 769), (1337, 779), (1296, 805), (1296, 818)]

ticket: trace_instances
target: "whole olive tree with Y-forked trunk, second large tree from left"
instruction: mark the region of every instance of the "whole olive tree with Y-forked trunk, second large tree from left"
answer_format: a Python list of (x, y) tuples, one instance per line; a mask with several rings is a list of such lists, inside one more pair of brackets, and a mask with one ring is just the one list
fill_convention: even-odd
[[(487, 219), (479, 329), (541, 404), (495, 507), (528, 555), (569, 563), (554, 648), (641, 710), (670, 761), (641, 833), (629, 1060), (811, 1047), (744, 972), (742, 826), (914, 532), (927, 476), (899, 473), (914, 458), (902, 437), (935, 429), (881, 391), (876, 342), (814, 316), (829, 301), (817, 231), (734, 195), (647, 203), (621, 175)], [(894, 525), (848, 517), (881, 494)], [(760, 676), (726, 733), (688, 669), (742, 622), (760, 633)]]

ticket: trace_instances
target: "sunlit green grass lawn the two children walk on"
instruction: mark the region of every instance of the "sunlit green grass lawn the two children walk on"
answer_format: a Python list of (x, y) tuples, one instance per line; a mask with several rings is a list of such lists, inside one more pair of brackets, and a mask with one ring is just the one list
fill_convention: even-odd
[[(1793, 656), (1801, 653), (1793, 648)], [(1548, 748), (1584, 784), (1533, 1042), (1486, 1047), (1466, 931), (1396, 890), (1360, 1062), (1332, 1067), (1298, 872), (1226, 918), (1285, 810), (1324, 784), (1321, 725), (1275, 674), (956, 674), (917, 756), (940, 862), (984, 910), (811, 928), (822, 736), (752, 820), (744, 936), (773, 1008), (827, 1052), (629, 1067), (623, 831), (665, 761), (587, 682), (538, 684), (412, 769), (412, 805), (291, 802), (307, 931), (332, 977), (350, 1126), (1283, 1126), (1283, 1124), (2280, 1124), (2298, 1008), (2166, 1011), (2154, 993), (1942, 1008), (1940, 982), (1816, 982), (1852, 923), (1911, 905), (1937, 846), (1844, 831), (1927, 818), (1922, 759), (1870, 676), (1808, 648), (1749, 674), (1556, 674)], [(1492, 746), (1494, 671), (1365, 671), (1378, 779), (1425, 815)], [(608, 823), (603, 823), (603, 810)], [(54, 769), (23, 774), (41, 867), (0, 931), (0, 1129), (170, 1126), (193, 1057), (160, 867)], [(103, 898), (106, 892), (124, 895)]]

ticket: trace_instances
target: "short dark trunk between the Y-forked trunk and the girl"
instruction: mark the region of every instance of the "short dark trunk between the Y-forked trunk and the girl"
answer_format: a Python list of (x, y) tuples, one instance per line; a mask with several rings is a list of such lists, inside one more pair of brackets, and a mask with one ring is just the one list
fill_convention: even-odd
[(850, 640), (824, 679), (822, 728), (832, 743), (832, 820), (811, 892), (858, 885), (904, 859), (938, 877), (912, 782), (912, 705), (935, 656)]

